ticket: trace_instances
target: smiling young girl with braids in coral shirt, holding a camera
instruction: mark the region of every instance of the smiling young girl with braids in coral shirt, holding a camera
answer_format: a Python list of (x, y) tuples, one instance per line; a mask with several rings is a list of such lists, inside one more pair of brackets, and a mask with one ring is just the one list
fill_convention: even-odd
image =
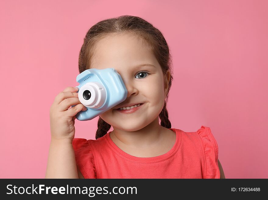
[(86, 110), (78, 89), (59, 93), (50, 109), (46, 178), (224, 178), (209, 127), (171, 128), (171, 55), (157, 28), (136, 16), (95, 24), (79, 54), (79, 72), (90, 68), (115, 68), (127, 98), (99, 115), (96, 140), (86, 140), (74, 138), (75, 115)]

